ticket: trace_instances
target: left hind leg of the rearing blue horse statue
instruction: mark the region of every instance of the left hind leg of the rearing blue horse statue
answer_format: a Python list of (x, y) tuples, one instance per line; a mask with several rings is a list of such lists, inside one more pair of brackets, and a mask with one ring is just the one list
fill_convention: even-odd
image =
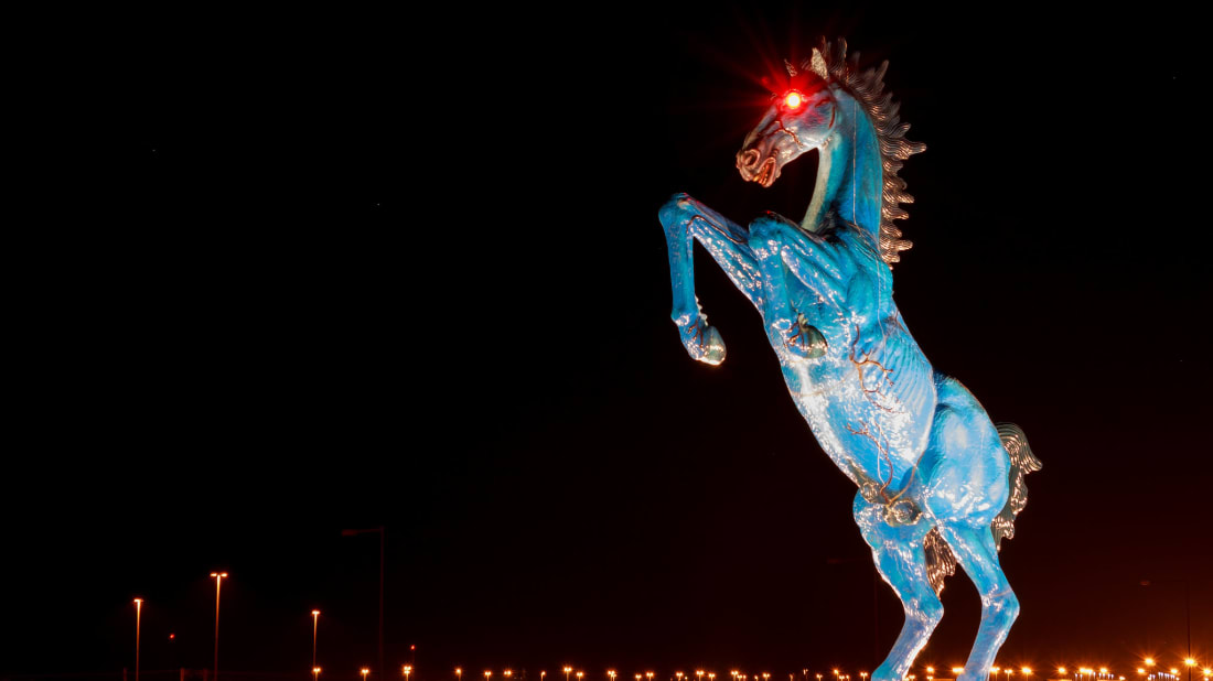
[(905, 608), (901, 634), (889, 656), (872, 673), (872, 681), (902, 681), (944, 617), (944, 605), (927, 576), (923, 550), (932, 521), (923, 515), (913, 525), (890, 526), (884, 521), (884, 507), (862, 496), (855, 497), (854, 513), (864, 540), (872, 548), (876, 570), (893, 586)]

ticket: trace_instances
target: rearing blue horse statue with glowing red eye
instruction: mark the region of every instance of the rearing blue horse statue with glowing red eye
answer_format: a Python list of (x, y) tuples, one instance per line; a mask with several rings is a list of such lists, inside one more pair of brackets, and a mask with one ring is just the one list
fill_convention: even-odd
[(884, 62), (860, 71), (847, 44), (822, 41), (775, 93), (736, 164), (770, 187), (810, 149), (818, 177), (799, 223), (767, 213), (746, 229), (685, 194), (660, 211), (673, 317), (691, 357), (717, 365), (724, 342), (694, 290), (697, 240), (762, 315), (792, 400), (859, 486), (854, 517), (905, 624), (872, 681), (902, 681), (944, 616), (959, 563), (981, 596), (981, 624), (958, 681), (985, 681), (1019, 602), (998, 565), (1038, 470), (1023, 430), (991, 423), (955, 378), (934, 371), (893, 302), (890, 264), (910, 247), (893, 221), (912, 201), (898, 177), (926, 149), (909, 142), (884, 93)]

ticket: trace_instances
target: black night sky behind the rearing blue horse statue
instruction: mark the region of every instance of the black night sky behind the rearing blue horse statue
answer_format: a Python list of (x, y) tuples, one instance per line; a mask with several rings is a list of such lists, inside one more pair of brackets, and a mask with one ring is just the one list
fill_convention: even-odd
[[(816, 155), (762, 189), (734, 154), (757, 78), (819, 35), (889, 59), (928, 147), (910, 331), (1043, 463), (1000, 662), (1174, 665), (1186, 584), (1209, 664), (1191, 17), (449, 5), (74, 19), (98, 154), (13, 253), (0, 676), (133, 668), (136, 596), (144, 670), (209, 666), (226, 570), (222, 670), (307, 677), (319, 608), (321, 679), (355, 681), (378, 544), (341, 531), (378, 526), (393, 675), (410, 645), (423, 681), (870, 671), (901, 612), (854, 485), (702, 252), (729, 355), (687, 356), (656, 217), (688, 191), (799, 219)], [(922, 664), (976, 631), (967, 577), (943, 599)]]

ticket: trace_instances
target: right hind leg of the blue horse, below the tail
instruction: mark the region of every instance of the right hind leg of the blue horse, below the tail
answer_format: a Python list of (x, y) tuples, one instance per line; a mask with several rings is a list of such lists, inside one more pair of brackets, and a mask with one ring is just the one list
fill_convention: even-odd
[(964, 663), (964, 673), (956, 681), (984, 681), (1010, 625), (1019, 617), (1019, 599), (998, 565), (998, 549), (990, 527), (941, 525), (939, 532), (981, 595), (981, 625)]

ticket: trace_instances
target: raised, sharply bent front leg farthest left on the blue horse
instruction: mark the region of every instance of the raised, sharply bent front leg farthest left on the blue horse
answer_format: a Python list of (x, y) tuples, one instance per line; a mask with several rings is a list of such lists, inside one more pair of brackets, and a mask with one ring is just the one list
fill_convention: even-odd
[(707, 324), (695, 297), (695, 241), (704, 245), (733, 285), (762, 309), (762, 282), (748, 246), (746, 229), (687, 194), (674, 194), (657, 213), (670, 250), (670, 285), (673, 311), (670, 317), (687, 354), (710, 365), (724, 361), (724, 339)]

